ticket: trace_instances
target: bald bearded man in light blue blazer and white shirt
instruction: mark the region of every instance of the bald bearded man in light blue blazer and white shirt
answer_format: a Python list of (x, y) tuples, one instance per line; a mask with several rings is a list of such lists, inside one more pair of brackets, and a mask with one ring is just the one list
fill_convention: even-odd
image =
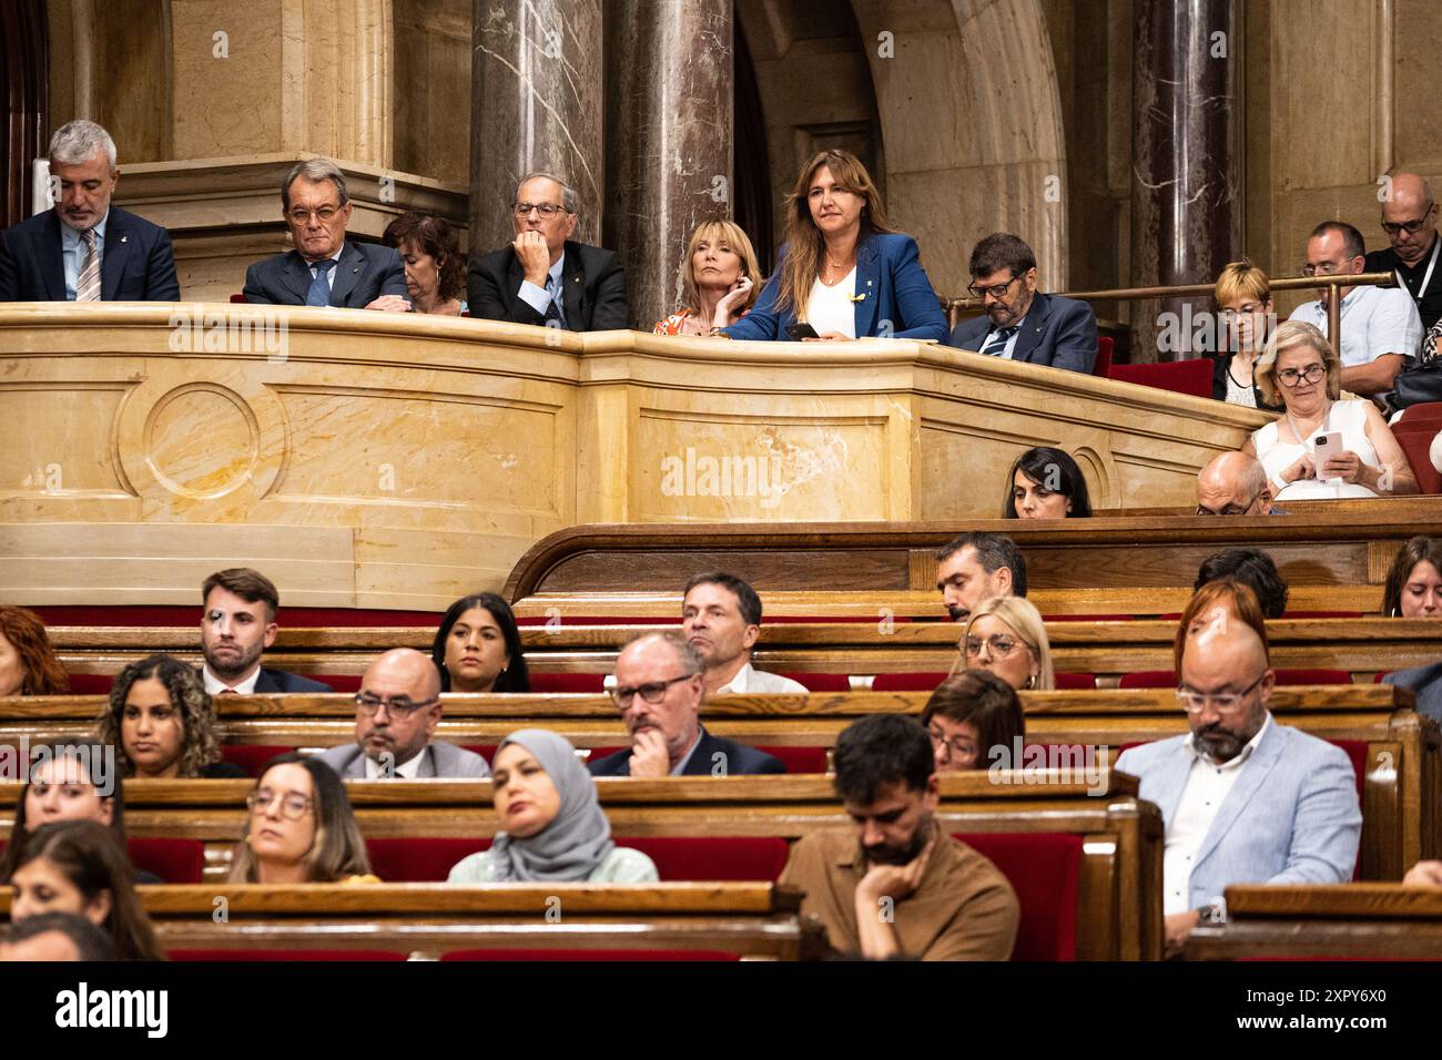
[(1167, 955), (1204, 917), (1224, 917), (1230, 884), (1345, 883), (1357, 864), (1361, 808), (1345, 751), (1268, 711), (1275, 675), (1256, 596), (1211, 581), (1177, 630), (1177, 699), (1191, 733), (1123, 751), (1167, 825), (1162, 911)]

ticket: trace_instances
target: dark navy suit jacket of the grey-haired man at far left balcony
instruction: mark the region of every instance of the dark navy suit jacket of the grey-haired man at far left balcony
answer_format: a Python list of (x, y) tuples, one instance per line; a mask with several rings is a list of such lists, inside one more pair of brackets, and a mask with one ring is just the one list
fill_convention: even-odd
[[(65, 301), (55, 208), (0, 232), (0, 301)], [(101, 301), (180, 301), (170, 234), (120, 206), (105, 218)]]

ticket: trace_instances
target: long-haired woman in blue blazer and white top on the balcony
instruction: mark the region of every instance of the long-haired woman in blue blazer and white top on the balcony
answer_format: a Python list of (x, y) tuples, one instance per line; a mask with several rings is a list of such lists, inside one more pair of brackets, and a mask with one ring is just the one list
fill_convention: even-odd
[(916, 239), (894, 231), (867, 167), (831, 150), (802, 167), (786, 196), (786, 245), (756, 307), (728, 339), (786, 340), (809, 323), (816, 340), (946, 339), (946, 314)]

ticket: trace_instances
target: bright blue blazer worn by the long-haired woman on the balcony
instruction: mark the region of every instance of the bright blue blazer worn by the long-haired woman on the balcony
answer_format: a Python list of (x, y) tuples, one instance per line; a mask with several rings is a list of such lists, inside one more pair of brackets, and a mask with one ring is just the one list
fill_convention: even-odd
[[(786, 327), (796, 323), (793, 310), (779, 310), (782, 248), (776, 271), (761, 297), (744, 317), (725, 329), (733, 339), (787, 342)], [(920, 251), (910, 235), (872, 234), (857, 249), (857, 337), (883, 335), (883, 320), (891, 322), (893, 339), (946, 340), (946, 313), (921, 268)]]

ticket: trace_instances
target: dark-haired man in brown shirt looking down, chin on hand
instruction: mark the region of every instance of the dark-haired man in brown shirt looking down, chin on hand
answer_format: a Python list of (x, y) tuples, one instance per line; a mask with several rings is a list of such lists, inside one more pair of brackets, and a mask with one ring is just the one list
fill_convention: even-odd
[(1007, 960), (1021, 906), (991, 861), (937, 826), (926, 730), (874, 714), (836, 738), (835, 759), (855, 825), (803, 836), (782, 873), (831, 948), (868, 960)]

